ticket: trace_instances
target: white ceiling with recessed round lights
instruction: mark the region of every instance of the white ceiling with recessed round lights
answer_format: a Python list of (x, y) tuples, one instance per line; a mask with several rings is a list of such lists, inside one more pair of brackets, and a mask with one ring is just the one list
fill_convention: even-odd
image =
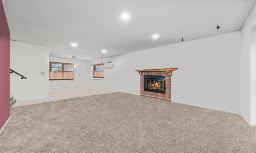
[[(239, 31), (256, 0), (3, 0), (11, 39), (94, 60)], [(122, 12), (129, 21), (120, 19)], [(151, 35), (158, 33), (158, 40)], [(79, 46), (73, 48), (70, 43)], [(69, 47), (70, 49), (64, 49)], [(102, 49), (107, 52), (103, 54)]]

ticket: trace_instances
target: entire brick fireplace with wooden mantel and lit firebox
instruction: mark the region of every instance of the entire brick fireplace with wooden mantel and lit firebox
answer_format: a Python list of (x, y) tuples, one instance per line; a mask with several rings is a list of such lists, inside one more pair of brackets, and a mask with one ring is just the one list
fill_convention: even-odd
[(177, 68), (135, 70), (140, 74), (140, 96), (171, 101), (171, 75)]

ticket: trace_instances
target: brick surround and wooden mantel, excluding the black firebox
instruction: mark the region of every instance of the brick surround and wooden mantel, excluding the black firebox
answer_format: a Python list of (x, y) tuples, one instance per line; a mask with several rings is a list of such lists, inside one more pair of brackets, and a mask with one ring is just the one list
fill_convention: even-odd
[[(140, 74), (140, 96), (165, 100), (171, 102), (171, 75), (177, 68), (160, 68), (136, 70)], [(164, 75), (165, 76), (165, 94), (145, 91), (145, 75)]]

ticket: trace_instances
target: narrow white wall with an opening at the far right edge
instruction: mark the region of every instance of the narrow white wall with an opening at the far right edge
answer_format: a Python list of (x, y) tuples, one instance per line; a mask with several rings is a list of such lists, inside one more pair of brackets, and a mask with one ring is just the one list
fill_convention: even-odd
[[(251, 46), (250, 46), (250, 33), (252, 27), (256, 23), (256, 7), (253, 8), (251, 14), (246, 19), (242, 29), (241, 29), (241, 115), (245, 120), (252, 124), (255, 121), (251, 121), (251, 116), (254, 114), (255, 110), (251, 107), (252, 103), (255, 103), (255, 85), (251, 84), (251, 79), (253, 79), (253, 68), (251, 67), (251, 62), (255, 58), (251, 56)], [(252, 58), (252, 59), (251, 59)], [(252, 72), (252, 73), (251, 73)], [(254, 101), (254, 102), (253, 102)], [(252, 109), (251, 109), (252, 108)]]

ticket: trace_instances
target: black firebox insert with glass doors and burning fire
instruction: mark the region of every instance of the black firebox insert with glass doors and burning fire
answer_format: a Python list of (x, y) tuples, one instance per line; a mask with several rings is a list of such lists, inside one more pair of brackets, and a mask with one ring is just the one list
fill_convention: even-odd
[(145, 75), (144, 91), (165, 94), (165, 75)]

